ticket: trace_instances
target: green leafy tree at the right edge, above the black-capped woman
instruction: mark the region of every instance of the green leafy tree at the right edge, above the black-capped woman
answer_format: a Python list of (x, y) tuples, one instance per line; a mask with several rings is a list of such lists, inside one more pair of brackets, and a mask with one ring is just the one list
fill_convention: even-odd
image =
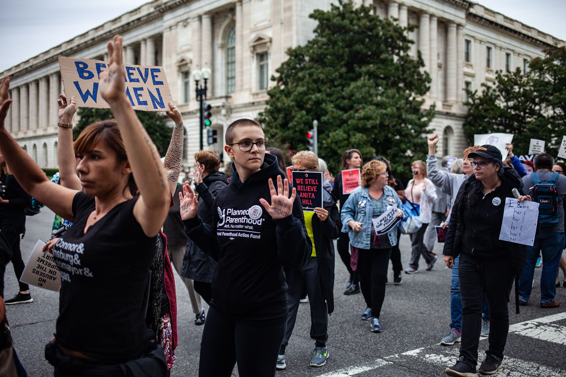
[(552, 48), (535, 58), (526, 75), (520, 68), (496, 72), (493, 85), (482, 91), (468, 90), (468, 118), (464, 132), (471, 143), (474, 134), (513, 134), (513, 152), (527, 154), (531, 138), (546, 141), (545, 151), (558, 153), (566, 124), (566, 51)]

